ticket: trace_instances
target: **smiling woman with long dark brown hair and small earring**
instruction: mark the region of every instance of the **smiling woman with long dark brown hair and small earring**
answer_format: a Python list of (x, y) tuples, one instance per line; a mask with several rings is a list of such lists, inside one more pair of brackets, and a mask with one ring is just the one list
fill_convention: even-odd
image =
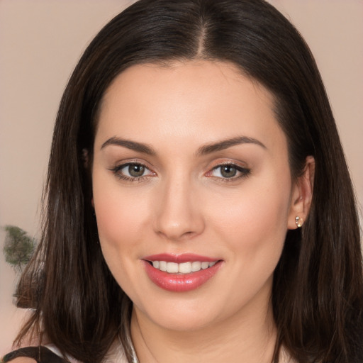
[(264, 1), (140, 0), (108, 23), (62, 98), (47, 196), (18, 286), (37, 347), (7, 361), (362, 362), (340, 140)]

